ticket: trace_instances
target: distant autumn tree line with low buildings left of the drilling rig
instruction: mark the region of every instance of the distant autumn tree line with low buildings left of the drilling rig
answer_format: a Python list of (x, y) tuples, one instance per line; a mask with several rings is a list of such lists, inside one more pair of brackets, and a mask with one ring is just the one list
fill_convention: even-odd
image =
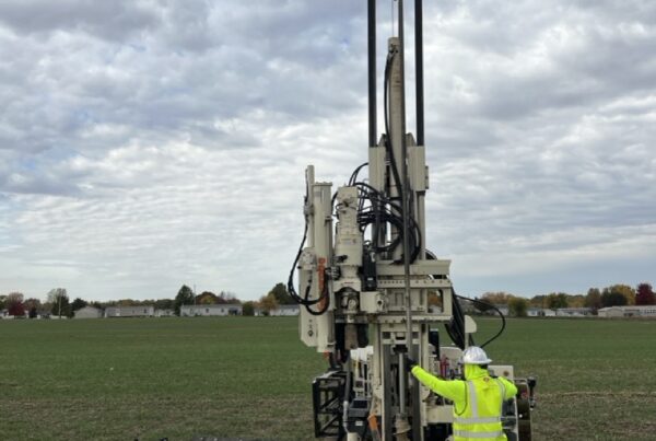
[(283, 283), (277, 283), (267, 294), (258, 301), (241, 301), (234, 292), (220, 291), (215, 294), (212, 291), (202, 291), (196, 294), (187, 285), (183, 285), (173, 299), (157, 300), (134, 300), (121, 299), (105, 302), (86, 301), (81, 298), (70, 300), (66, 288), (54, 288), (48, 291), (46, 301), (30, 298), (21, 292), (10, 292), (0, 295), (0, 311), (7, 310), (9, 315), (16, 317), (36, 318), (37, 316), (59, 316), (73, 317), (75, 312), (84, 306), (106, 309), (109, 306), (154, 306), (156, 310), (173, 310), (175, 315), (180, 315), (183, 305), (191, 304), (242, 304), (244, 315), (254, 315), (256, 309), (268, 314), (281, 304), (293, 304), (294, 301)]

